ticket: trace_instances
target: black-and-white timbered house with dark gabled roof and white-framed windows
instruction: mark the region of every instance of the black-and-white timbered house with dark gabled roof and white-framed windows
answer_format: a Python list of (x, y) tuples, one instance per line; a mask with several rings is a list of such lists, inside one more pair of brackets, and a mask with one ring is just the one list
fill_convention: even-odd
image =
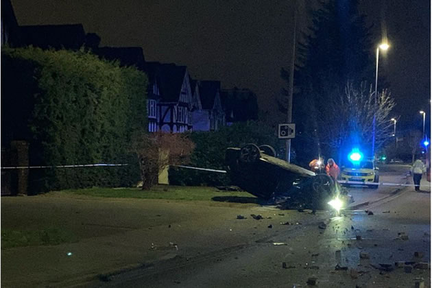
[(187, 67), (146, 62), (145, 71), (156, 103), (157, 130), (185, 132), (192, 130), (192, 93)]

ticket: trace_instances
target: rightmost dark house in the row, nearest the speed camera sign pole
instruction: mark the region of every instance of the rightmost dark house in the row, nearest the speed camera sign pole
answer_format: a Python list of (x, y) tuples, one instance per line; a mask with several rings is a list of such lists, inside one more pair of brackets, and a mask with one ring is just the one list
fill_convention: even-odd
[(223, 89), (221, 90), (221, 103), (226, 113), (227, 125), (258, 119), (258, 103), (256, 95), (249, 89)]

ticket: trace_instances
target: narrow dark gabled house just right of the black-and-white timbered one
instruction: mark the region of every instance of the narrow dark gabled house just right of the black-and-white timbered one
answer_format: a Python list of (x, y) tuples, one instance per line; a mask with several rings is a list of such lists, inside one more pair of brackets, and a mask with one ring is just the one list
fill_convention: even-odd
[(225, 126), (225, 112), (222, 108), (220, 81), (199, 81), (202, 110), (208, 113), (208, 130), (219, 130)]

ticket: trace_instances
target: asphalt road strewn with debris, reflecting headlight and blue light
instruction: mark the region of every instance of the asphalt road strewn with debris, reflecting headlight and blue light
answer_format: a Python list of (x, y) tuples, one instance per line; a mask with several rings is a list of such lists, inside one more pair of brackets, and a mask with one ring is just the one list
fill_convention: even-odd
[[(405, 272), (395, 265), (430, 263), (430, 200), (429, 193), (405, 189), (361, 211), (318, 213), (250, 245), (156, 263), (97, 286), (309, 287), (308, 279), (315, 277), (317, 287), (414, 287), (420, 278), (430, 287), (430, 266)], [(318, 227), (320, 221), (326, 228)], [(337, 264), (347, 270), (336, 270)]]

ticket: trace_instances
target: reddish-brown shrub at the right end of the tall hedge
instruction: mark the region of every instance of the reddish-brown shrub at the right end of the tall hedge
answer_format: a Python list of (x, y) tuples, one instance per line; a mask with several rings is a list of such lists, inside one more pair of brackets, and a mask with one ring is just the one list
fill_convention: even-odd
[(167, 165), (187, 163), (194, 148), (189, 134), (155, 132), (136, 136), (132, 149), (139, 158), (143, 190), (158, 183), (159, 173)]

